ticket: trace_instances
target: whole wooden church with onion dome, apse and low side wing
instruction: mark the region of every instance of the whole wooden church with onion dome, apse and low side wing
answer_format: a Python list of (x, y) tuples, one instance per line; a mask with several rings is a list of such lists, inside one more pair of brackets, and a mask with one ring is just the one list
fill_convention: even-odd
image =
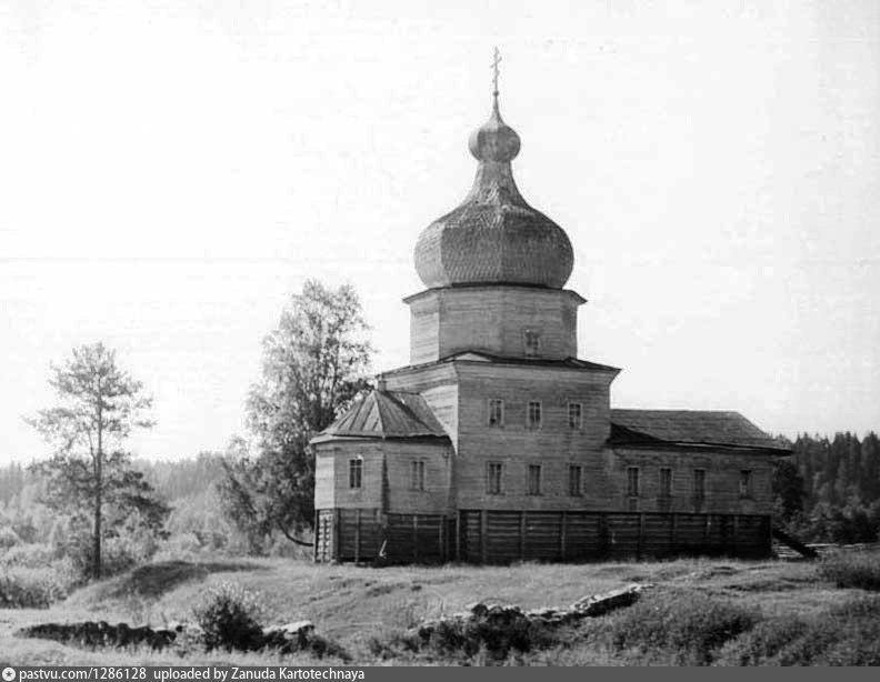
[(410, 364), (312, 440), (317, 561), (770, 553), (778, 442), (737, 412), (618, 410), (577, 358), (571, 242), (517, 189), (501, 118), (416, 244)]

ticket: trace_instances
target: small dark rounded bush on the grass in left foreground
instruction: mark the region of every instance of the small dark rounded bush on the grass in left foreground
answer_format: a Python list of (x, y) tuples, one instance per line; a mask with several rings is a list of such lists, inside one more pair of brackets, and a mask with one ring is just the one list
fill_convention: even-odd
[(256, 592), (222, 582), (210, 586), (193, 609), (209, 649), (253, 651), (262, 646), (266, 609)]

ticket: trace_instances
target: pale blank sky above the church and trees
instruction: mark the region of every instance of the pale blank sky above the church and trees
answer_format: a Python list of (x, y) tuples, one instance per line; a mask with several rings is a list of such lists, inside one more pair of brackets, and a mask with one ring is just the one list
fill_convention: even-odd
[(22, 415), (97, 340), (156, 397), (139, 455), (222, 448), (308, 277), (406, 364), (496, 44), (612, 404), (878, 429), (879, 27), (876, 0), (0, 0), (0, 462), (47, 452)]

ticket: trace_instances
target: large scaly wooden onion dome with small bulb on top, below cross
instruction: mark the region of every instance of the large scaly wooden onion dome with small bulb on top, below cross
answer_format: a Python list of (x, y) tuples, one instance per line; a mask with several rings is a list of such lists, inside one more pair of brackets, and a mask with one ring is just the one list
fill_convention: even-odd
[(562, 289), (574, 257), (566, 232), (531, 208), (510, 162), (520, 138), (501, 118), (498, 92), (489, 120), (468, 143), (479, 161), (473, 188), (416, 243), (416, 271), (429, 289), (462, 284), (526, 284)]

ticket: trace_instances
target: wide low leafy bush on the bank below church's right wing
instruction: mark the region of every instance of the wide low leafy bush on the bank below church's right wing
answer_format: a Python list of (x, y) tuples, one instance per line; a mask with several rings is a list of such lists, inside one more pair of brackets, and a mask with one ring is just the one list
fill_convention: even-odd
[(756, 612), (698, 592), (658, 591), (610, 616), (604, 639), (618, 651), (636, 649), (677, 664), (706, 665), (724, 642), (759, 620)]

